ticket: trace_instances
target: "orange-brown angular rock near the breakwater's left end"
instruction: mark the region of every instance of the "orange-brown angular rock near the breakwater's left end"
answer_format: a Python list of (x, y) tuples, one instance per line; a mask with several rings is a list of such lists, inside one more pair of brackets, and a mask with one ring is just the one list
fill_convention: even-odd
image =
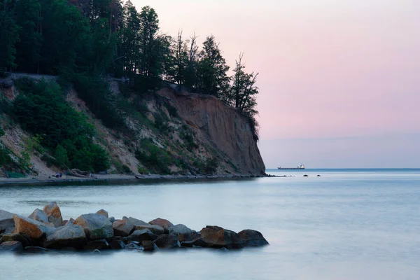
[(13, 221), (15, 221), (15, 233), (26, 235), (31, 239), (39, 239), (45, 233), (54, 232), (54, 228), (48, 228), (44, 223), (32, 220), (31, 218), (13, 215)]

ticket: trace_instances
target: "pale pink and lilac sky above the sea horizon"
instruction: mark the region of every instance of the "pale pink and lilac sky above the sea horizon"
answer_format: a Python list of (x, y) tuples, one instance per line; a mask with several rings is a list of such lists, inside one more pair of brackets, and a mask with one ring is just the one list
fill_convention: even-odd
[(420, 167), (419, 0), (134, 0), (259, 73), (267, 168)]

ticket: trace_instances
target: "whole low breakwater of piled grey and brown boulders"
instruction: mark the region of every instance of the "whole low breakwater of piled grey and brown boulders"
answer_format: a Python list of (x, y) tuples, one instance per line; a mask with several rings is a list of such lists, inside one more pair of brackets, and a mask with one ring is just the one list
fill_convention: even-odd
[(135, 250), (155, 251), (181, 247), (238, 249), (264, 246), (267, 240), (255, 230), (239, 233), (218, 226), (199, 232), (157, 218), (148, 223), (137, 218), (109, 218), (104, 209), (63, 221), (55, 202), (29, 216), (0, 210), (0, 252)]

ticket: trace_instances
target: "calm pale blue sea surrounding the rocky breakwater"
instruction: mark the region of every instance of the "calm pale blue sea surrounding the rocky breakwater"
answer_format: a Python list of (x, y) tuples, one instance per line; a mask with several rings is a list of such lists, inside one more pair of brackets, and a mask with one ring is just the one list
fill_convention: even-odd
[(1, 254), (0, 279), (420, 279), (420, 169), (267, 172), (294, 177), (0, 186), (0, 209), (18, 214), (57, 201), (64, 218), (104, 208), (116, 218), (161, 217), (195, 230), (251, 228), (271, 244)]

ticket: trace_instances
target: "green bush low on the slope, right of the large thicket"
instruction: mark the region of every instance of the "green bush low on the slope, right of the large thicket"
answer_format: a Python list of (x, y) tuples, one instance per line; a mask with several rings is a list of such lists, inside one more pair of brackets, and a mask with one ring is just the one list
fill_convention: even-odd
[(168, 167), (174, 164), (174, 158), (151, 140), (141, 142), (141, 150), (136, 151), (136, 158), (149, 170), (158, 174), (170, 174)]

